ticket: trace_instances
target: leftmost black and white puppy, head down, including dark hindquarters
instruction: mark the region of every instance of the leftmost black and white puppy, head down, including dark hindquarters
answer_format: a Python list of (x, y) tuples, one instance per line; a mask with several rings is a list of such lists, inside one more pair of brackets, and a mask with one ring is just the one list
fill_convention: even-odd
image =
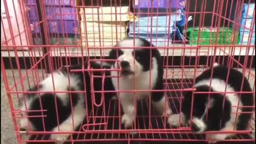
[[(50, 139), (63, 143), (70, 137), (70, 132), (82, 124), (86, 115), (90, 113), (93, 106), (91, 95), (91, 74), (88, 71), (72, 72), (71, 69), (87, 69), (88, 63), (63, 67), (54, 71), (37, 86), (31, 88), (19, 102), (22, 118), (20, 119), (21, 129), (30, 131), (51, 131), (67, 132), (67, 134), (51, 134)], [(92, 69), (109, 68), (101, 66), (97, 62), (91, 62)], [(94, 76), (101, 76), (100, 71), (94, 71)], [(108, 74), (110, 76), (110, 72)], [(102, 90), (102, 77), (94, 77), (94, 90)], [(104, 90), (114, 90), (111, 85), (111, 78), (105, 79)], [(86, 85), (85, 85), (86, 84)], [(54, 87), (54, 88), (53, 88)], [(85, 91), (86, 90), (86, 95)], [(38, 92), (41, 93), (33, 93)], [(81, 91), (81, 92), (71, 92)], [(62, 92), (62, 93), (54, 93)], [(105, 94), (106, 98), (112, 95)], [(95, 94), (95, 102), (101, 101), (101, 95)], [(26, 103), (26, 104), (25, 104)], [(87, 103), (87, 105), (85, 105)], [(87, 110), (86, 110), (87, 108)], [(42, 111), (44, 110), (44, 111)], [(69, 133), (68, 133), (69, 132)]]

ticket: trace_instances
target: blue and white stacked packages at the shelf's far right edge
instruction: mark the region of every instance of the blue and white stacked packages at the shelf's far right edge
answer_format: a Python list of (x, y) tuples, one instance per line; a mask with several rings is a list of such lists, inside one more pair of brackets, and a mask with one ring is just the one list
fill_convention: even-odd
[[(239, 29), (239, 44), (254, 45), (255, 44), (255, 4), (244, 4), (241, 27)], [(252, 30), (253, 29), (253, 30)], [(251, 42), (250, 42), (251, 41)]]

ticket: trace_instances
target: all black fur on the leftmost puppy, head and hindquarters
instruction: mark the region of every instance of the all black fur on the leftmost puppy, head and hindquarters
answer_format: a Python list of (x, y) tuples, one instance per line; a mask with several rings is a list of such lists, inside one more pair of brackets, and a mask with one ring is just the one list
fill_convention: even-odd
[[(88, 63), (87, 61), (83, 65), (74, 65), (70, 67), (63, 67), (60, 72), (65, 74), (65, 75), (76, 75), (79, 77), (81, 80), (79, 85), (79, 90), (81, 91), (86, 91), (84, 94), (86, 94), (86, 103), (89, 113), (92, 110), (93, 107), (93, 101), (92, 101), (92, 94), (91, 94), (91, 79), (90, 77), (92, 76), (89, 74), (88, 71), (79, 71), (79, 72), (71, 72), (71, 69), (82, 69), (83, 67), (87, 69)], [(102, 66), (99, 65), (96, 62), (91, 63), (91, 68), (93, 69), (101, 69)], [(103, 66), (103, 68), (109, 69), (110, 67), (108, 66)], [(113, 91), (114, 86), (111, 83), (110, 77), (110, 71), (106, 72), (101, 72), (101, 71), (94, 71), (93, 75), (94, 76), (102, 76), (102, 74), (105, 73), (106, 79), (105, 79), (105, 84), (102, 84), (102, 77), (94, 77), (94, 91), (101, 91), (102, 86), (104, 86), (105, 91)], [(34, 87), (34, 89), (30, 89), (30, 91), (37, 91), (37, 87)], [(67, 91), (75, 91), (73, 87), (67, 87)], [(57, 93), (58, 94), (58, 93)], [(72, 101), (72, 106), (75, 107), (80, 100), (80, 95), (78, 93), (67, 93), (67, 103), (64, 105), (62, 103), (61, 99), (59, 97), (56, 97), (54, 93), (45, 93), (42, 94), (39, 97), (35, 97), (33, 101), (31, 102), (29, 106), (30, 112), (28, 113), (28, 116), (33, 116), (29, 117), (29, 121), (35, 126), (36, 131), (44, 131), (44, 126), (45, 125), (45, 130), (46, 131), (51, 131), (54, 127), (58, 126), (58, 121), (59, 119), (59, 124), (61, 124), (63, 121), (65, 121), (71, 114), (71, 101)], [(110, 99), (115, 93), (105, 93), (105, 100), (107, 101)], [(35, 94), (33, 94), (35, 95)], [(32, 95), (30, 95), (31, 97)], [(95, 102), (99, 104), (101, 101), (101, 93), (95, 93)], [(41, 108), (41, 102), (42, 102), (42, 108)], [(55, 105), (56, 103), (56, 105)], [(85, 104), (85, 101), (84, 101)], [(56, 108), (57, 107), (57, 108)], [(46, 111), (31, 111), (31, 110), (46, 110)], [(57, 111), (58, 109), (58, 111)], [(42, 114), (43, 113), (43, 114)], [(42, 116), (44, 115), (44, 117)], [(35, 117), (36, 116), (36, 117)], [(58, 118), (57, 118), (58, 116)], [(43, 124), (44, 122), (44, 124)]]

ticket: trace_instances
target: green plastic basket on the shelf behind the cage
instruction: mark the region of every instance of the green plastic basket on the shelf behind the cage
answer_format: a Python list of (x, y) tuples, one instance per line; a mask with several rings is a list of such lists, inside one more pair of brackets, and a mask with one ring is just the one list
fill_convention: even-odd
[[(201, 28), (199, 42), (197, 44), (199, 28), (188, 28), (187, 36), (191, 45), (214, 45), (216, 44), (217, 28)], [(235, 37), (235, 41), (234, 41)], [(238, 31), (231, 28), (220, 28), (218, 45), (238, 44)]]

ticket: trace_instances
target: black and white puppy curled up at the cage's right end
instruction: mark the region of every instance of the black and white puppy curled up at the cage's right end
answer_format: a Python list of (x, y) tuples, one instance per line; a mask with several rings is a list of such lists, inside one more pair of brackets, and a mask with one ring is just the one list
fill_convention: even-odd
[[(178, 126), (180, 120), (181, 125), (190, 124), (192, 131), (195, 133), (247, 130), (252, 116), (250, 112), (253, 111), (253, 94), (241, 93), (240, 97), (238, 93), (226, 93), (226, 97), (224, 97), (223, 92), (252, 92), (249, 82), (239, 71), (229, 70), (217, 63), (214, 63), (212, 79), (211, 72), (211, 69), (207, 69), (196, 77), (194, 99), (192, 92), (184, 94), (181, 113), (170, 116), (169, 124)], [(228, 74), (229, 77), (226, 83)], [(208, 97), (207, 92), (209, 91), (217, 93), (211, 93)], [(190, 117), (192, 101), (194, 101), (194, 105), (192, 117)], [(234, 134), (206, 133), (206, 139), (210, 143), (214, 143), (232, 137)]]

